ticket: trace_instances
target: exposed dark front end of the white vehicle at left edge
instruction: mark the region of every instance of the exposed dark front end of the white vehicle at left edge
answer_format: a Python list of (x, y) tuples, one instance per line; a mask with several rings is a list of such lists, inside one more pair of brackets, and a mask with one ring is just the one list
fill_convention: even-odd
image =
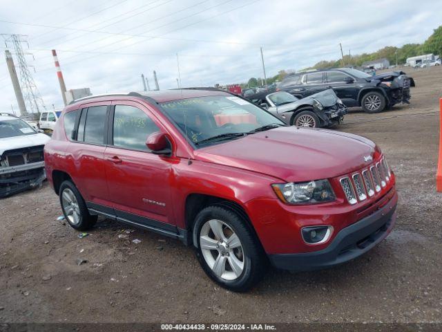
[(0, 156), (0, 198), (41, 185), (46, 178), (44, 145), (11, 149)]

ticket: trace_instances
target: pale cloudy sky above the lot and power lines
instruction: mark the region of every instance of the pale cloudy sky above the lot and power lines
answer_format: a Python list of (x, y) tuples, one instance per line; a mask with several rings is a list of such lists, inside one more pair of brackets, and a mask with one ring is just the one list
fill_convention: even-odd
[[(422, 43), (442, 24), (442, 1), (421, 0), (1, 0), (0, 111), (18, 112), (7, 35), (23, 50), (46, 108), (63, 107), (51, 50), (67, 89), (93, 94), (247, 82), (281, 69)], [(15, 57), (15, 55), (14, 55)], [(178, 71), (178, 64), (180, 71)], [(15, 66), (19, 71), (17, 57)]]

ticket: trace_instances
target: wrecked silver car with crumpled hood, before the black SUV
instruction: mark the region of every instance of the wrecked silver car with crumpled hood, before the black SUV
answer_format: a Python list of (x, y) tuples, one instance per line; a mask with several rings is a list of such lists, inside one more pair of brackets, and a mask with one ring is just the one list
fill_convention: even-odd
[(285, 91), (257, 93), (249, 100), (280, 120), (298, 127), (332, 127), (343, 120), (347, 107), (332, 89), (298, 99)]

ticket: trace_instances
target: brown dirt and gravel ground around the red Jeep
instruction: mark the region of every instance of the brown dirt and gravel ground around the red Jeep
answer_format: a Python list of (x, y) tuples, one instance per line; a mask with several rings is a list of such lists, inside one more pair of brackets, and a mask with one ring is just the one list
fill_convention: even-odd
[(312, 273), (269, 270), (231, 293), (179, 241), (142, 230), (119, 239), (126, 226), (105, 219), (79, 239), (44, 183), (0, 201), (0, 322), (442, 322), (442, 68), (407, 71), (410, 105), (355, 110), (337, 128), (376, 141), (396, 172), (396, 228), (367, 255)]

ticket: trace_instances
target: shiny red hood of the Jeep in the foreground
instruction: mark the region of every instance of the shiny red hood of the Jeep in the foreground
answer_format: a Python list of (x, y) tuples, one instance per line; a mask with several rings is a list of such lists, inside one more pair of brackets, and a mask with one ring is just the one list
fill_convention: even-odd
[[(325, 129), (280, 127), (195, 150), (195, 159), (280, 178), (287, 182), (332, 178), (367, 165), (371, 140)], [(374, 158), (374, 157), (373, 157)]]

